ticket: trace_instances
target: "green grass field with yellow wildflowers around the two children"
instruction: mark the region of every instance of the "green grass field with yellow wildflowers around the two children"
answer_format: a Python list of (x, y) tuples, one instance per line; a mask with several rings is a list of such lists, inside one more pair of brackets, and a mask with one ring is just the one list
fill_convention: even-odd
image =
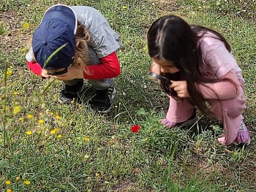
[[(108, 115), (60, 104), (62, 83), (27, 69), (27, 42), (56, 3), (94, 7), (121, 35), (121, 75)], [(255, 12), (254, 0), (2, 0), (0, 191), (256, 191)], [(148, 77), (146, 32), (170, 13), (230, 42), (243, 69), (251, 145), (219, 145), (221, 124), (199, 112), (191, 128), (159, 124), (168, 100)]]

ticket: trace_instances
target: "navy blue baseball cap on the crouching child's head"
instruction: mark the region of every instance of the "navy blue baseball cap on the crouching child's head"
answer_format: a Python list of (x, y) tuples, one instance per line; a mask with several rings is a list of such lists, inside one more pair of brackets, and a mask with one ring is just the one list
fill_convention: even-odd
[[(75, 12), (66, 5), (56, 4), (45, 12), (32, 38), (34, 57), (42, 68), (67, 68), (72, 64), (77, 23)], [(45, 66), (48, 57), (66, 43)]]

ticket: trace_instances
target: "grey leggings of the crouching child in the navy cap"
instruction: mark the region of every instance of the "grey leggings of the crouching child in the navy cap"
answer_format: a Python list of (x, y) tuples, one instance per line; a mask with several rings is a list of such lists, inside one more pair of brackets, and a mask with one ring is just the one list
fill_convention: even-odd
[[(95, 53), (92, 47), (88, 47), (88, 55), (89, 55), (89, 62), (88, 65), (98, 65), (101, 64), (97, 54)], [(74, 80), (66, 80), (64, 81), (67, 85), (75, 85), (79, 81), (83, 81), (83, 79), (74, 79)], [(108, 89), (114, 84), (114, 79), (104, 79), (104, 80), (89, 80), (89, 83), (94, 86), (97, 90)]]

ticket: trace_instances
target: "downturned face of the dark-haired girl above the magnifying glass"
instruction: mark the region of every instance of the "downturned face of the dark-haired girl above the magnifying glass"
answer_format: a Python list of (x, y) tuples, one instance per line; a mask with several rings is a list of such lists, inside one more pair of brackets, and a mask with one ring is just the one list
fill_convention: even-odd
[(179, 72), (179, 69), (174, 66), (173, 61), (165, 61), (158, 58), (152, 58), (153, 64), (157, 64), (162, 73), (176, 73)]

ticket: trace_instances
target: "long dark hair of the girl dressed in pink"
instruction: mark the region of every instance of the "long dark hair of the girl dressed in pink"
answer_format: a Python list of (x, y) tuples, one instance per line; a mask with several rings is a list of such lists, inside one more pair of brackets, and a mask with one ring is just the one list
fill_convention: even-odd
[[(224, 42), (225, 47), (230, 51), (230, 45), (217, 31), (203, 26), (189, 25), (176, 15), (166, 15), (157, 19), (148, 30), (147, 40), (148, 54), (151, 58), (173, 61), (180, 70), (177, 74), (162, 73), (162, 75), (171, 80), (186, 80), (194, 104), (203, 114), (212, 115), (202, 93), (195, 86), (195, 82), (202, 84), (202, 82), (219, 81), (203, 77), (203, 56), (198, 41), (207, 31), (211, 32), (209, 34), (212, 34), (212, 37)], [(161, 85), (165, 93), (173, 97), (177, 96), (176, 92), (170, 89), (170, 82), (161, 82)]]

